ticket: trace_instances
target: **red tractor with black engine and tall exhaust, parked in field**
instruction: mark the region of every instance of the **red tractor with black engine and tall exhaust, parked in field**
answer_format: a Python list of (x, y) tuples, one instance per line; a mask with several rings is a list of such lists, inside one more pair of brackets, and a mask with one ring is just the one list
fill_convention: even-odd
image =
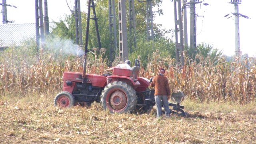
[(100, 102), (110, 112), (132, 112), (136, 108), (148, 112), (154, 102), (154, 91), (149, 90), (150, 80), (137, 77), (140, 70), (139, 60), (135, 60), (132, 70), (113, 68), (102, 75), (79, 72), (64, 72), (63, 91), (58, 93), (55, 106), (71, 107), (76, 104), (90, 106)]

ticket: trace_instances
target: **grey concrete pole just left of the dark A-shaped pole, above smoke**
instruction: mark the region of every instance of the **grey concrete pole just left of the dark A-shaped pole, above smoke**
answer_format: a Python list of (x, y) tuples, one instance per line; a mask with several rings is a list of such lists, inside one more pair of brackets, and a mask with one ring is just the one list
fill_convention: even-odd
[(75, 22), (76, 22), (76, 44), (82, 46), (82, 22), (81, 22), (81, 9), (80, 0), (75, 0)]

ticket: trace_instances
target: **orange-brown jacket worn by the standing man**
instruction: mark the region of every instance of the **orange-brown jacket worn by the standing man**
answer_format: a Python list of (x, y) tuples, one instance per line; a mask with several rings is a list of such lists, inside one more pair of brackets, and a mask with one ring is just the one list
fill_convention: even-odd
[(165, 76), (157, 75), (152, 80), (151, 87), (155, 88), (155, 96), (157, 95), (165, 95), (170, 96), (170, 86), (168, 79)]

